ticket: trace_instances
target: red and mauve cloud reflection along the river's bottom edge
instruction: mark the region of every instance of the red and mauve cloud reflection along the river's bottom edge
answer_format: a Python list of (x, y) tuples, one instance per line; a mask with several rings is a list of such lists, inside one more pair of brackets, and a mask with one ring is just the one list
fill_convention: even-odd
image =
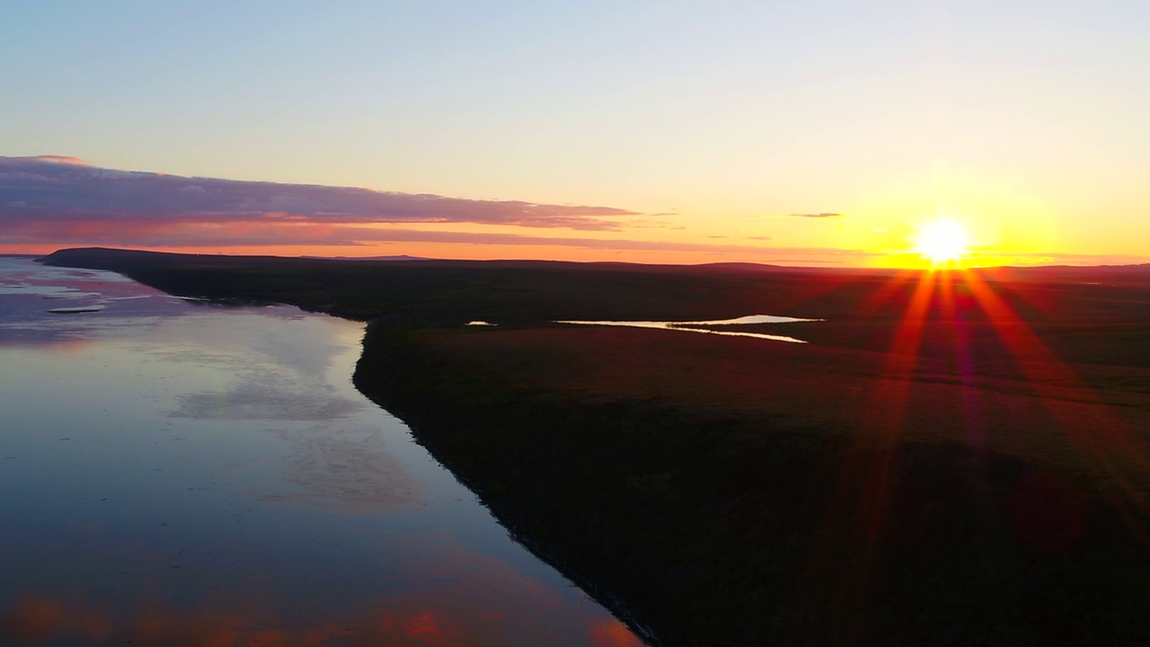
[[(276, 645), (305, 647), (639, 647), (627, 627), (593, 604), (448, 534), (396, 542), (394, 570), (368, 586), (292, 586), (291, 569), (253, 571), (225, 589), (151, 591), (120, 603), (53, 591), (15, 592), (0, 602), (0, 642)], [(187, 573), (181, 572), (182, 578)], [(325, 576), (321, 574), (321, 578)], [(7, 642), (5, 642), (7, 644)]]

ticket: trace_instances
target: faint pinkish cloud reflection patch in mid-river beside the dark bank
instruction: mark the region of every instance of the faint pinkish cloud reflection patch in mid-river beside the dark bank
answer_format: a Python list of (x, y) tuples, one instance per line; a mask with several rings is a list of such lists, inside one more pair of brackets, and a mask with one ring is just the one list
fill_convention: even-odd
[(274, 433), (292, 447), (284, 457), (284, 480), (305, 492), (261, 496), (266, 501), (353, 513), (383, 512), (423, 502), (420, 482), (386, 451), (379, 431), (317, 425)]

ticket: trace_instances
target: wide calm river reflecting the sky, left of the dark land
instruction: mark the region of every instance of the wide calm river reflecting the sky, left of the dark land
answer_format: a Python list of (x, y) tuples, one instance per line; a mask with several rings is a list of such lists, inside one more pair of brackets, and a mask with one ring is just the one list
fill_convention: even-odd
[(0, 257), (0, 642), (639, 645), (354, 389), (362, 334)]

